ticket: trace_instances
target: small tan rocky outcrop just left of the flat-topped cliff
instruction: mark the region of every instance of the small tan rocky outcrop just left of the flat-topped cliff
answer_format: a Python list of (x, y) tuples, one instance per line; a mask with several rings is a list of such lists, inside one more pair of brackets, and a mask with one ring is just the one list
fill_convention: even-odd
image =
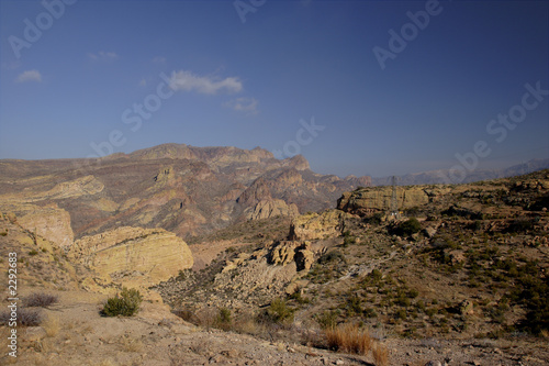
[(347, 218), (351, 215), (340, 210), (302, 214), (292, 220), (289, 237), (311, 241), (340, 235)]

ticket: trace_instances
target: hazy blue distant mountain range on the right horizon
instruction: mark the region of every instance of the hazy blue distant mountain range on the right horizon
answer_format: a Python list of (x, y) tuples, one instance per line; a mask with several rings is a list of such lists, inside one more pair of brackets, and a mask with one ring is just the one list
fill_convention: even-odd
[[(449, 177), (448, 170), (430, 170), (423, 173), (406, 174), (396, 176), (396, 185), (399, 186), (414, 186), (414, 185), (436, 185), (449, 182), (473, 182), (480, 180), (491, 180), (497, 178), (506, 178), (519, 176), (541, 169), (549, 169), (549, 158), (547, 159), (531, 159), (524, 164), (514, 165), (504, 169), (477, 169), (469, 171), (460, 181), (452, 181)], [(460, 177), (461, 178), (461, 177)], [(371, 178), (372, 186), (389, 186), (392, 182), (392, 177)]]

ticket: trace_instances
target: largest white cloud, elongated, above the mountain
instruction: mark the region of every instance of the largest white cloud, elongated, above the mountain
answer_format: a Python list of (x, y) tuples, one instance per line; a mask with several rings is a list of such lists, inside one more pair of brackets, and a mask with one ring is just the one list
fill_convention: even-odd
[(180, 70), (171, 73), (170, 88), (173, 90), (197, 91), (204, 95), (215, 95), (220, 90), (238, 92), (243, 89), (236, 77), (220, 80), (210, 76), (198, 76), (191, 71)]

